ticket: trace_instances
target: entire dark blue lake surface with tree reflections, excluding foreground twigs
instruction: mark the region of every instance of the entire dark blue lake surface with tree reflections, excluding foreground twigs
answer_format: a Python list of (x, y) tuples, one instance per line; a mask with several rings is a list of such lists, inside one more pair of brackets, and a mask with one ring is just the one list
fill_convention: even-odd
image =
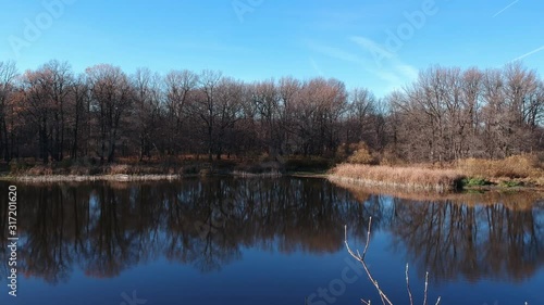
[(321, 179), (17, 185), (17, 297), (8, 295), (1, 183), (0, 304), (544, 304), (544, 205), (357, 195)]

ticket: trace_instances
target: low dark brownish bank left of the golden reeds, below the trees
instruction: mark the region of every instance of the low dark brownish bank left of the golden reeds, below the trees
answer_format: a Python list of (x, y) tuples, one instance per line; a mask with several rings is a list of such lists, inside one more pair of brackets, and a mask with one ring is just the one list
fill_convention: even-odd
[(201, 156), (178, 156), (138, 161), (119, 158), (115, 164), (100, 165), (96, 160), (63, 160), (41, 164), (35, 160), (0, 163), (0, 179), (24, 181), (85, 180), (171, 180), (181, 177), (236, 176), (280, 177), (293, 173), (323, 174), (332, 162), (322, 157), (288, 156), (270, 158), (222, 158), (209, 161)]

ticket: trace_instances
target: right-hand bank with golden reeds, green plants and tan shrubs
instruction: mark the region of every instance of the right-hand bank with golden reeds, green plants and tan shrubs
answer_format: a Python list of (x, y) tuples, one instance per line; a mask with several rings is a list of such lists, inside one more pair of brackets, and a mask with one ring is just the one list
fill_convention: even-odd
[(448, 164), (341, 164), (330, 171), (333, 181), (438, 192), (459, 189), (543, 188), (544, 162), (535, 154), (503, 160), (467, 158)]

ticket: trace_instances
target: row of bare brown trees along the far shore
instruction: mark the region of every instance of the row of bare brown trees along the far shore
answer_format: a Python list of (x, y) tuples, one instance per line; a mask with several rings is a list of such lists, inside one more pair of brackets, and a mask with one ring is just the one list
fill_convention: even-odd
[(364, 142), (408, 162), (505, 157), (543, 148), (544, 82), (521, 63), (432, 66), (376, 99), (338, 79), (242, 81), (218, 71), (165, 75), (100, 64), (0, 62), (0, 156), (139, 160), (182, 154), (334, 157)]

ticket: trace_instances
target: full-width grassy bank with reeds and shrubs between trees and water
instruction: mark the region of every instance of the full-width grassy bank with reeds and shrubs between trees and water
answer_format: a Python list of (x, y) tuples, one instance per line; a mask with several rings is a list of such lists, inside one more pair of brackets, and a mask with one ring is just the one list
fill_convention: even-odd
[[(366, 152), (364, 150), (362, 150)], [(527, 154), (503, 160), (467, 158), (446, 164), (391, 163), (360, 151), (344, 158), (347, 163), (333, 169), (334, 161), (324, 157), (287, 156), (271, 158), (223, 158), (180, 156), (138, 161), (120, 158), (116, 164), (100, 165), (92, 160), (64, 160), (42, 165), (33, 160), (0, 164), (4, 179), (26, 181), (83, 180), (169, 180), (180, 177), (237, 176), (280, 177), (312, 176), (351, 185), (386, 189), (447, 192), (465, 189), (544, 188), (544, 155)], [(357, 164), (371, 163), (372, 165)], [(387, 164), (387, 165), (380, 165)]]

